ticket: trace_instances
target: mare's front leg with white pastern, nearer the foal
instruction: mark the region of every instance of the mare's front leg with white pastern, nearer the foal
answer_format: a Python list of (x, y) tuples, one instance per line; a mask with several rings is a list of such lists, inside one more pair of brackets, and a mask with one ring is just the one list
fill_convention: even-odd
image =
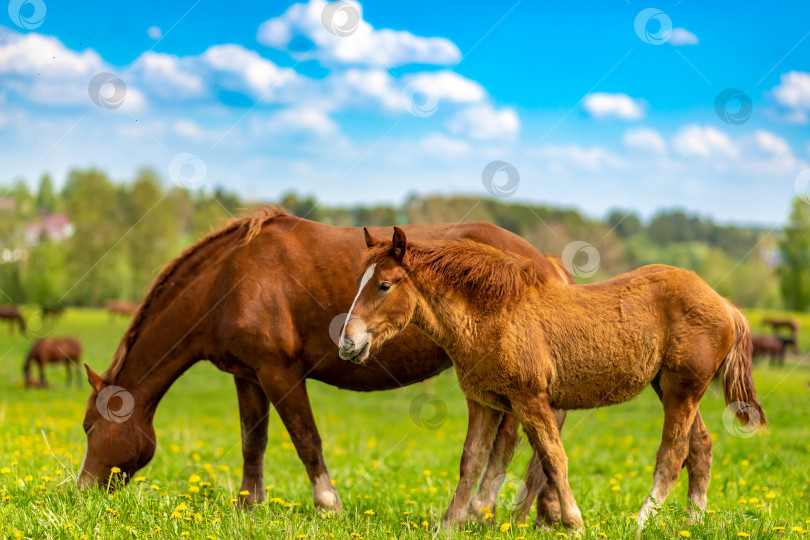
[(343, 504), (332, 485), (323, 460), (321, 437), (312, 416), (307, 396), (306, 379), (290, 372), (278, 372), (273, 366), (267, 374), (260, 374), (259, 382), (265, 394), (278, 411), (284, 427), (290, 434), (298, 457), (307, 469), (315, 507), (329, 512), (340, 512)]

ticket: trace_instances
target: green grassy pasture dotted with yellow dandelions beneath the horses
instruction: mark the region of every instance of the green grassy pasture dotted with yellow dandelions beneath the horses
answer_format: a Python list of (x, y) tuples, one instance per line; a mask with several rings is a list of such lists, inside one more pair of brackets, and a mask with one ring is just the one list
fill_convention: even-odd
[[(28, 310), (29, 312), (31, 310)], [(772, 313), (771, 313), (772, 314)], [(756, 324), (763, 313), (747, 313)], [(810, 350), (810, 321), (803, 349)], [(70, 309), (53, 335), (78, 336), (84, 360), (101, 372), (126, 322), (98, 310)], [(324, 453), (343, 500), (337, 516), (315, 511), (303, 466), (276, 415), (265, 460), (267, 502), (235, 507), (241, 481), (239, 417), (231, 378), (207, 363), (183, 376), (157, 411), (158, 449), (130, 486), (110, 495), (79, 492), (75, 475), (90, 388), (67, 388), (61, 367), (47, 390), (22, 388), (31, 342), (0, 326), (0, 537), (2, 538), (431, 538), (456, 483), (466, 428), (463, 396), (448, 371), (430, 384), (359, 394), (310, 382)], [(810, 529), (810, 363), (758, 365), (754, 379), (769, 426), (753, 436), (727, 429), (719, 387), (701, 413), (714, 441), (709, 513), (686, 520), (686, 473), (644, 538), (798, 538)], [(438, 396), (421, 410), (418, 396)], [(415, 401), (416, 400), (416, 401)], [(446, 409), (446, 418), (443, 411)], [(563, 431), (583, 538), (634, 538), (633, 520), (652, 482), (663, 414), (646, 390), (624, 405), (569, 414)], [(736, 435), (735, 435), (736, 433)], [(510, 472), (529, 457), (521, 442)], [(510, 523), (520, 483), (510, 480), (483, 526), (454, 538), (563, 538)]]

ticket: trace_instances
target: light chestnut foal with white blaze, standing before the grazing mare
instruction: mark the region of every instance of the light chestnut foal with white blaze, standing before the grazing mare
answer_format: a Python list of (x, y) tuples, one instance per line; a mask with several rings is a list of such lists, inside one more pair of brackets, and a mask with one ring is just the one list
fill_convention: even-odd
[(751, 379), (748, 323), (691, 272), (657, 265), (570, 285), (547, 279), (520, 255), (469, 240), (408, 243), (395, 227), (393, 241), (366, 233), (366, 244), (340, 356), (364, 364), (413, 323), (447, 351), (467, 396), (470, 422), (445, 526), (466, 520), (482, 449), (505, 412), (523, 424), (557, 490), (561, 520), (573, 527), (583, 526), (582, 515), (553, 408), (622, 403), (653, 386), (664, 405), (664, 430), (640, 526), (684, 466), (689, 501), (705, 510), (711, 439), (698, 402), (721, 367), (737, 418), (764, 422)]

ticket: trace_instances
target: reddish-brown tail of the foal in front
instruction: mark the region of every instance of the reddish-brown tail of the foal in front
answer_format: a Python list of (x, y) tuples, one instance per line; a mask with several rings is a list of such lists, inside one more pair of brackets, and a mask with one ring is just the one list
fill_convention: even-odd
[(757, 400), (754, 379), (751, 376), (751, 329), (745, 316), (731, 302), (729, 312), (734, 320), (734, 344), (723, 360), (723, 392), (726, 404), (744, 426), (751, 428), (766, 424), (765, 412)]

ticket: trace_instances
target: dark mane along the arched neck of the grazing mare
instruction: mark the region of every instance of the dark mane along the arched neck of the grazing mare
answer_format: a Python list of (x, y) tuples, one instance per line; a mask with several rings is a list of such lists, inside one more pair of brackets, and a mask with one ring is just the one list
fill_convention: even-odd
[(129, 328), (127, 328), (126, 333), (124, 333), (124, 336), (121, 338), (121, 341), (118, 344), (118, 348), (115, 350), (115, 354), (113, 355), (113, 363), (104, 376), (106, 380), (111, 380), (111, 378), (115, 377), (121, 370), (121, 367), (124, 365), (124, 358), (126, 357), (127, 351), (135, 343), (135, 340), (138, 339), (141, 326), (146, 320), (149, 308), (166, 288), (166, 285), (171, 282), (172, 278), (175, 277), (175, 274), (181, 266), (202, 251), (203, 248), (234, 232), (242, 232), (242, 235), (239, 241), (236, 242), (235, 247), (245, 246), (259, 235), (264, 225), (279, 216), (287, 215), (283, 208), (271, 205), (265, 205), (253, 209), (251, 212), (251, 215), (232, 218), (221, 228), (212, 230), (207, 235), (197, 240), (197, 242), (183, 250), (178, 257), (175, 257), (174, 260), (161, 269), (160, 273), (149, 287), (149, 292), (146, 293), (146, 296), (138, 307), (138, 310), (135, 312)]

